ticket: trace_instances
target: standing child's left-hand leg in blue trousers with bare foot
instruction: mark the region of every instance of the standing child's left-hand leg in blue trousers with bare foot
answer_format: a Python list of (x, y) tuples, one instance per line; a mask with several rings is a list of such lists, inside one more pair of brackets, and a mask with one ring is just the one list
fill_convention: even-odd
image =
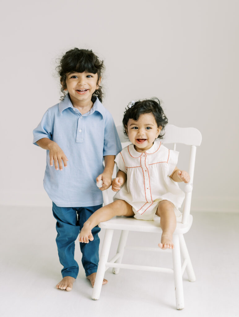
[(52, 211), (56, 219), (58, 255), (63, 265), (61, 270), (63, 280), (57, 284), (57, 288), (71, 290), (72, 285), (67, 286), (67, 284), (73, 284), (79, 271), (79, 266), (74, 259), (74, 242), (80, 231), (76, 208), (58, 207), (53, 203)]

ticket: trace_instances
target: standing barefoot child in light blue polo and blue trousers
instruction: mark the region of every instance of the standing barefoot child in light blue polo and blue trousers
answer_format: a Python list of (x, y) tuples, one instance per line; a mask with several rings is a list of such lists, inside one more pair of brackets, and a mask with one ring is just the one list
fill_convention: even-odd
[[(101, 103), (103, 68), (103, 61), (91, 50), (66, 52), (58, 67), (61, 102), (46, 111), (33, 131), (33, 143), (47, 150), (43, 184), (53, 202), (56, 244), (63, 265), (63, 279), (56, 287), (67, 291), (79, 271), (74, 242), (83, 224), (102, 207), (101, 191), (111, 185), (115, 155), (122, 149), (113, 118)], [(101, 191), (96, 185), (99, 181), (103, 182)], [(99, 228), (91, 229), (94, 243), (80, 243), (80, 247), (81, 261), (93, 286), (99, 261)]]

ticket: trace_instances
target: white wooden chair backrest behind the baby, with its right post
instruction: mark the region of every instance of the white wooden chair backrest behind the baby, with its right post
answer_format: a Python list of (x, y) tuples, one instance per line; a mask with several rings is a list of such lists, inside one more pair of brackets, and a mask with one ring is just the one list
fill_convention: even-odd
[[(130, 143), (128, 137), (126, 137), (123, 133), (122, 126), (117, 126), (117, 132), (119, 134), (119, 139), (123, 147)], [(190, 183), (186, 184), (184, 188), (185, 199), (184, 199), (184, 209), (183, 209), (183, 217), (182, 217), (182, 223), (186, 223), (188, 216), (190, 214), (190, 207), (191, 207), (196, 149), (197, 149), (197, 146), (200, 146), (201, 144), (202, 135), (200, 131), (197, 130), (196, 128), (179, 128), (178, 126), (168, 124), (165, 126), (165, 136), (161, 141), (163, 144), (172, 143), (174, 150), (176, 150), (177, 143), (191, 146), (189, 169), (188, 169), (188, 173), (190, 175)]]

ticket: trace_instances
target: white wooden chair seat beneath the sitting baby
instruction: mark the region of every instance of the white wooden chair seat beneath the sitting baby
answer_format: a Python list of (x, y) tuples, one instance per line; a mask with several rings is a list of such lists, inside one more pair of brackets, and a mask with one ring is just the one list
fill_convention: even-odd
[[(182, 218), (178, 218), (181, 221)], [(181, 223), (177, 221), (177, 227), (174, 234), (184, 234), (191, 228), (193, 217), (189, 215), (187, 223)], [(160, 218), (157, 220), (138, 220), (134, 217), (116, 216), (112, 219), (101, 222), (98, 225), (102, 229), (116, 229), (116, 230), (129, 230), (129, 231), (141, 231), (141, 232), (156, 232), (162, 233), (160, 228)]]

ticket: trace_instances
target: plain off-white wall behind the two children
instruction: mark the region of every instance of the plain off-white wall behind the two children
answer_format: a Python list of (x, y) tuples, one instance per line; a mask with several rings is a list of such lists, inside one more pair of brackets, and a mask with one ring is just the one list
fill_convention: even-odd
[(232, 0), (5, 2), (1, 204), (51, 204), (32, 130), (59, 102), (56, 58), (78, 47), (105, 62), (116, 125), (129, 101), (157, 96), (171, 124), (201, 131), (192, 209), (238, 211), (238, 10)]

